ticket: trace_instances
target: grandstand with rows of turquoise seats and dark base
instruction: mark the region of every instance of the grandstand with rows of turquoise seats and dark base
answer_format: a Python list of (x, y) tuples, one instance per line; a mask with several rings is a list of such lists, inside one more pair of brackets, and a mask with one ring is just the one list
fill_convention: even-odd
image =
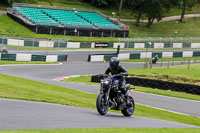
[(8, 16), (40, 34), (128, 37), (128, 27), (95, 12), (14, 3)]

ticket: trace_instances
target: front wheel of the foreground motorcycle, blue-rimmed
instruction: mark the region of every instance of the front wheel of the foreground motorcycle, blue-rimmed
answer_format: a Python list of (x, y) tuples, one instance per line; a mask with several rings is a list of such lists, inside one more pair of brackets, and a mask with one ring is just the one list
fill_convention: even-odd
[(105, 115), (108, 112), (108, 105), (105, 103), (105, 95), (99, 94), (96, 101), (96, 108), (99, 114)]

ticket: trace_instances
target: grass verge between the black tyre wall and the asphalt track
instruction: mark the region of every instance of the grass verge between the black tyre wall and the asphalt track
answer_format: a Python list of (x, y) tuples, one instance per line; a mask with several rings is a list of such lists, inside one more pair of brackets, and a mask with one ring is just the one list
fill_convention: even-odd
[[(74, 82), (74, 83), (84, 83), (84, 84), (89, 84), (89, 85), (100, 85), (99, 83), (91, 82), (91, 76), (72, 77), (69, 79), (65, 79), (64, 81)], [(135, 91), (200, 101), (200, 96), (188, 94), (184, 92), (166, 91), (166, 90), (152, 89), (152, 88), (140, 87), (140, 86), (131, 86), (131, 88), (135, 88)]]

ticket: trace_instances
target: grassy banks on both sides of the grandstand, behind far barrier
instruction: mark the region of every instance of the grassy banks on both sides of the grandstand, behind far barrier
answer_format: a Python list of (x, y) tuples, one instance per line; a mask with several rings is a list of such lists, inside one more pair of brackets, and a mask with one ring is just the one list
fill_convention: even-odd
[[(151, 28), (145, 27), (141, 24), (140, 27), (136, 27), (134, 23), (126, 23), (130, 25), (129, 37), (200, 37), (200, 19), (191, 18), (186, 19), (185, 23), (176, 24), (175, 21), (155, 23)], [(47, 34), (35, 34), (29, 29), (23, 27), (17, 22), (13, 21), (8, 16), (0, 16), (0, 35), (12, 35), (23, 37), (37, 37), (48, 39), (65, 38), (70, 41), (87, 41), (87, 42), (118, 42), (118, 38), (110, 37), (73, 37), (62, 35), (47, 35)], [(175, 35), (175, 31), (178, 34)], [(141, 40), (142, 41), (142, 40)], [(169, 40), (170, 41), (170, 40)], [(169, 42), (168, 41), (168, 42)], [(198, 42), (200, 40), (186, 40), (183, 42)]]

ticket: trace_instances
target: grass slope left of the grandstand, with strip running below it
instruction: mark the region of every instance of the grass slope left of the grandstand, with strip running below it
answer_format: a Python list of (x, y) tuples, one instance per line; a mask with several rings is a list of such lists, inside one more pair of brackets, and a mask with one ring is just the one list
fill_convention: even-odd
[(23, 37), (36, 37), (36, 38), (48, 38), (58, 39), (65, 38), (70, 41), (81, 41), (81, 42), (116, 42), (117, 38), (101, 38), (101, 37), (74, 37), (64, 35), (47, 35), (47, 34), (36, 34), (26, 27), (15, 22), (6, 15), (0, 15), (0, 35), (11, 35), (11, 36), (23, 36)]

